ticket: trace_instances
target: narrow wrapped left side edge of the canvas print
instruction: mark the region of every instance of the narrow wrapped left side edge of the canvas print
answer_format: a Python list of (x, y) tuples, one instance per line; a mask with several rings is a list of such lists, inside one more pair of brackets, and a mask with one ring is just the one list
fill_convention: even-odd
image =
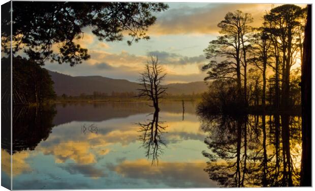
[(12, 189), (12, 1), (1, 5), (1, 34), (10, 38), (11, 53), (1, 49), (1, 185)]

